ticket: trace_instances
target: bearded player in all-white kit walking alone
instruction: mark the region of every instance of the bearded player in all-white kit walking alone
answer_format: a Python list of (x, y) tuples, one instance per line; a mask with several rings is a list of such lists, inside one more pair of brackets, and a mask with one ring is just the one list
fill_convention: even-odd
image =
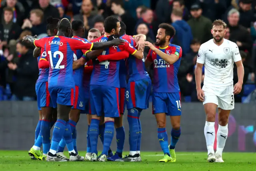
[[(206, 112), (204, 136), (208, 150), (208, 162), (224, 162), (222, 151), (228, 137), (228, 116), (234, 109), (234, 94), (240, 93), (244, 78), (244, 66), (236, 43), (224, 39), (226, 23), (215, 20), (212, 24), (213, 39), (203, 43), (196, 63), (196, 91)], [(233, 87), (233, 67), (237, 66), (238, 83)], [(201, 89), (202, 67), (204, 86)], [(215, 115), (218, 107), (217, 149), (214, 155)]]

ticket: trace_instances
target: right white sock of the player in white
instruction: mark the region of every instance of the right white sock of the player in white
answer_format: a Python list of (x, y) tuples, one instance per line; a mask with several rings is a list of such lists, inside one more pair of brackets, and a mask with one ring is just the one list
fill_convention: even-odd
[(226, 126), (220, 126), (217, 132), (217, 150), (216, 153), (222, 155), (226, 140), (228, 138), (228, 124)]

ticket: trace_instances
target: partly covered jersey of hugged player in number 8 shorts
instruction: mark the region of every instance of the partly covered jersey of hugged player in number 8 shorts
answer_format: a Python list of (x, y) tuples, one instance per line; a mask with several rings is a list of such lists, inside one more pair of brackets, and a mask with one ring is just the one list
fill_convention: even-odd
[[(133, 37), (129, 35), (123, 35), (122, 37), (124, 37), (124, 39), (126, 39), (133, 47), (136, 46), (136, 42)], [(149, 78), (144, 61), (144, 58), (137, 59), (133, 55), (130, 55), (126, 59), (126, 70), (129, 81), (139, 81), (145, 78)]]

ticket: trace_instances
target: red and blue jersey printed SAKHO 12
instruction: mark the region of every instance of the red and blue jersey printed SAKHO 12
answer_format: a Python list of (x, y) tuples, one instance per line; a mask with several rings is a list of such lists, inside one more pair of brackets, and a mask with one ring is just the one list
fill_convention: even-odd
[(74, 88), (73, 55), (77, 49), (92, 49), (93, 43), (64, 36), (44, 37), (34, 40), (36, 47), (45, 47), (50, 61), (48, 87), (64, 86)]

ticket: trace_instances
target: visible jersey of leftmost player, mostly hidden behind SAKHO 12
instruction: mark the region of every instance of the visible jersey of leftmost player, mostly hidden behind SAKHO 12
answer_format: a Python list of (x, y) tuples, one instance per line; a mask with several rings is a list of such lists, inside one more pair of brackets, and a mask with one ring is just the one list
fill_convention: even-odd
[[(46, 55), (46, 51), (44, 50), (44, 48), (41, 48), (41, 55), (39, 57), (37, 57), (37, 60), (38, 60), (38, 63), (40, 60), (47, 61), (47, 55)], [(39, 68), (39, 75), (38, 75), (37, 83), (48, 81), (48, 77), (49, 77), (49, 68), (47, 68), (47, 69)]]

